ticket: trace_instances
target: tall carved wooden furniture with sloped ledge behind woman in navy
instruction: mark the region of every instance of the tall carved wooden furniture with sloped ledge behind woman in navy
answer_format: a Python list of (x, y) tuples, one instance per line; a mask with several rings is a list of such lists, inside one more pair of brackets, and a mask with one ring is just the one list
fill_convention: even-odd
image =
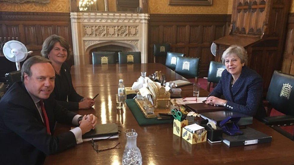
[(247, 66), (263, 79), (264, 96), (274, 70), (281, 69), (289, 6), (288, 0), (234, 0), (232, 34), (215, 41), (222, 45), (217, 59), (230, 45), (241, 44), (245, 47), (248, 53)]

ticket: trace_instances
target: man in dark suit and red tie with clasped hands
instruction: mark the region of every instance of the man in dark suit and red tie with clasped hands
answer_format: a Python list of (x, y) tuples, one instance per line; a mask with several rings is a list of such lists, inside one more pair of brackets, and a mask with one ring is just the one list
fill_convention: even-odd
[[(14, 83), (0, 101), (0, 164), (42, 164), (55, 154), (82, 142), (97, 118), (67, 111), (50, 98), (55, 72), (48, 59), (30, 57), (21, 70), (22, 82)], [(53, 136), (55, 122), (79, 125)]]

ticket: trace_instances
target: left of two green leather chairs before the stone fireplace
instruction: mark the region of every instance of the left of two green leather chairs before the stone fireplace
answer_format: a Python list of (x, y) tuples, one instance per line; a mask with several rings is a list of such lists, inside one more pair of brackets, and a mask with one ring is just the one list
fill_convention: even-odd
[(115, 64), (115, 52), (92, 52), (93, 65)]

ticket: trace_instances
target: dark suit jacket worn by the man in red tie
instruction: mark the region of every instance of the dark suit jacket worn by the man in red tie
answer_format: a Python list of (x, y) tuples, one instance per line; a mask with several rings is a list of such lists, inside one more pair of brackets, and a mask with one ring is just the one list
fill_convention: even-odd
[[(44, 100), (51, 133), (55, 122), (71, 124), (74, 112), (67, 111), (52, 98)], [(0, 101), (0, 164), (40, 164), (45, 154), (54, 154), (75, 146), (67, 131), (48, 135), (38, 109), (22, 82), (14, 83)]]

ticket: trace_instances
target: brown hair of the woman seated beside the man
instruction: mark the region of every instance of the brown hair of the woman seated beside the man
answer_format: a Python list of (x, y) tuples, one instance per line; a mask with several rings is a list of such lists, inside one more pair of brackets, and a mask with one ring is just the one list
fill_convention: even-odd
[(69, 43), (61, 36), (58, 35), (50, 35), (48, 38), (45, 39), (41, 54), (43, 57), (48, 59), (48, 54), (53, 49), (56, 42), (59, 42), (62, 47), (64, 47), (67, 51), (67, 57), (66, 60), (70, 59), (70, 56), (72, 55), (72, 51), (70, 49)]

